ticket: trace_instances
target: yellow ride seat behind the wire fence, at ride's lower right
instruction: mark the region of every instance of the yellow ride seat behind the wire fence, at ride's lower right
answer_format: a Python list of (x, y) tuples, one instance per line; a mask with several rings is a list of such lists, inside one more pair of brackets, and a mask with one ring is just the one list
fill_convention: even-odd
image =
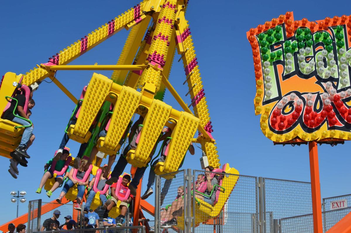
[[(232, 190), (234, 189), (234, 186), (236, 185), (239, 176), (233, 176), (229, 174), (239, 175), (238, 170), (229, 167), (229, 164), (224, 164), (223, 171), (227, 173), (227, 175), (221, 175), (221, 177), (223, 178), (221, 179), (221, 182), (219, 182), (219, 186), (223, 187), (224, 190), (220, 187), (218, 188), (216, 195), (217, 202), (213, 206), (211, 206), (205, 201), (198, 199), (198, 203), (195, 203), (195, 225), (198, 225), (199, 223), (204, 222), (208, 219), (216, 218), (223, 209), (224, 204), (226, 203)], [(193, 204), (191, 205), (191, 207), (191, 214), (193, 217)], [(184, 229), (184, 214), (178, 217), (177, 222), (178, 227), (180, 229)]]

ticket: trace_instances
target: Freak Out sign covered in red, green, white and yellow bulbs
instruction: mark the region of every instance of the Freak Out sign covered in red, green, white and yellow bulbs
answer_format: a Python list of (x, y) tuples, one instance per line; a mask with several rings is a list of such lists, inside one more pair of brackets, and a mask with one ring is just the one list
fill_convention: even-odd
[(254, 106), (274, 142), (351, 140), (351, 15), (294, 21), (292, 12), (251, 28)]

